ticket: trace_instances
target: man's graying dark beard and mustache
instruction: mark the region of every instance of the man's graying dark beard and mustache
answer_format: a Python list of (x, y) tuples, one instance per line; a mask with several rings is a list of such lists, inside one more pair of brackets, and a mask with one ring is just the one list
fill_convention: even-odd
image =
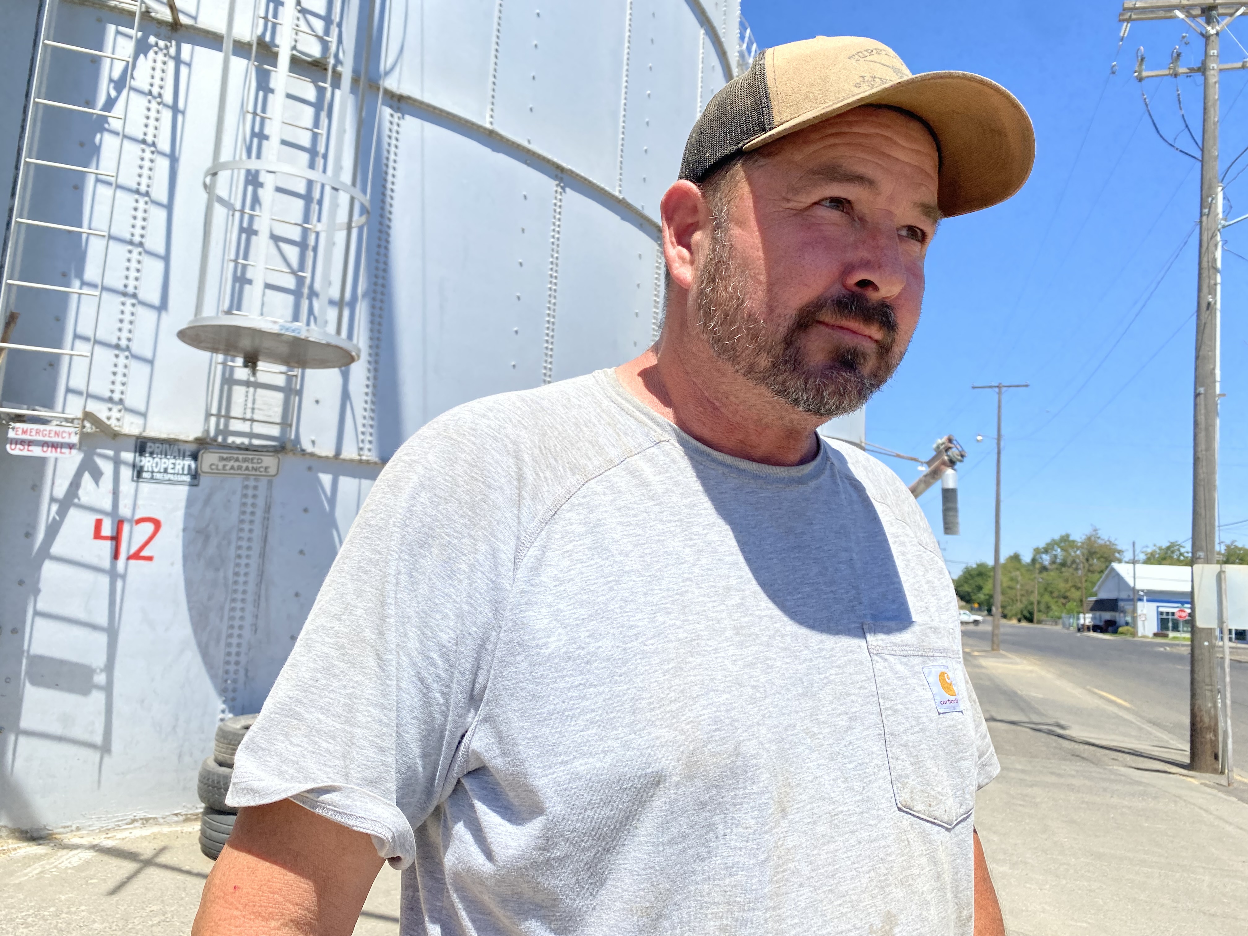
[[(711, 353), (805, 413), (834, 418), (861, 408), (892, 377), (905, 353), (892, 353), (897, 334), (892, 306), (856, 292), (820, 297), (799, 308), (779, 331), (755, 312), (758, 303), (736, 268), (725, 227), (725, 221), (715, 220), (710, 255), (696, 283), (698, 327)], [(874, 352), (846, 346), (826, 359), (806, 361), (801, 337), (817, 327), (817, 319), (874, 324), (884, 339)]]

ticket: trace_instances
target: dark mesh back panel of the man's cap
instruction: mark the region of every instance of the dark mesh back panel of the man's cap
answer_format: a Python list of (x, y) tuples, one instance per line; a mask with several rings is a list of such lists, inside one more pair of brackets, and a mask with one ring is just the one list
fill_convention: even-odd
[(741, 151), (750, 140), (775, 127), (768, 76), (759, 52), (744, 75), (724, 85), (710, 99), (685, 141), (680, 177), (700, 182), (721, 160)]

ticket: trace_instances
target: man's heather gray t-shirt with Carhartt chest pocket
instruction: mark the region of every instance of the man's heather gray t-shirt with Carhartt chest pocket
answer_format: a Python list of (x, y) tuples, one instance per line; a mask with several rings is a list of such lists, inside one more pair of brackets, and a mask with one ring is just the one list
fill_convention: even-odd
[(228, 801), (371, 834), (404, 934), (968, 936), (997, 770), (901, 480), (731, 458), (602, 371), (394, 456)]

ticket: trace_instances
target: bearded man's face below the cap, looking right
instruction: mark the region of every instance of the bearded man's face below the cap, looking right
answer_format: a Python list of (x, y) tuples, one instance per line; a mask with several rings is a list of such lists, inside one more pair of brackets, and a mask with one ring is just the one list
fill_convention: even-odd
[(841, 416), (892, 376), (919, 323), (936, 144), (911, 117), (859, 107), (761, 155), (713, 198), (699, 327), (746, 379)]

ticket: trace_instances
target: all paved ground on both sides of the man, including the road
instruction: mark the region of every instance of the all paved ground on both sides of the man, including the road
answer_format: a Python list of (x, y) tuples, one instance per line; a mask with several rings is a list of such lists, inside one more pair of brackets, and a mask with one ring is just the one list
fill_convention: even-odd
[[(1007, 624), (991, 654), (988, 638), (963, 629), (1002, 763), (976, 825), (1011, 936), (1248, 936), (1248, 776), (1227, 790), (1183, 769), (1187, 648)], [(1248, 663), (1232, 665), (1248, 714)], [(0, 849), (0, 936), (188, 932), (212, 867), (197, 831)], [(398, 882), (382, 869), (357, 934), (397, 934)]]

